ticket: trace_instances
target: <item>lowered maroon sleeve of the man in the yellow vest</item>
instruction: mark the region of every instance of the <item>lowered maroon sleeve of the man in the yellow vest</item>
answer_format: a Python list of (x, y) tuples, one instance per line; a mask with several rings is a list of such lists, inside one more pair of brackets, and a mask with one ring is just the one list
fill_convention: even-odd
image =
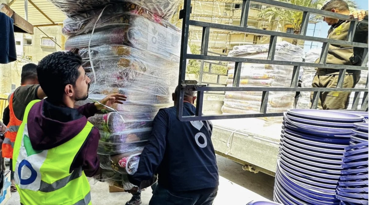
[(77, 169), (82, 166), (82, 170), (85, 172), (87, 177), (95, 176), (100, 167), (99, 156), (97, 156), (97, 148), (99, 146), (100, 133), (97, 128), (93, 128), (87, 138), (84, 146), (77, 155), (73, 168)]

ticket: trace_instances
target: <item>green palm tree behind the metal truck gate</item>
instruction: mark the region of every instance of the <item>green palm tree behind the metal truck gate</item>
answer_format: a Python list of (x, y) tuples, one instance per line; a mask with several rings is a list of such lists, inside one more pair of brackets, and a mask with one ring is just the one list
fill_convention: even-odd
[[(284, 3), (290, 3), (298, 6), (310, 7), (321, 9), (327, 0), (276, 0)], [(350, 11), (356, 10), (358, 8), (358, 4), (354, 0), (345, 0), (348, 3)], [(292, 25), (293, 33), (299, 34), (301, 29), (301, 23), (303, 18), (303, 13), (299, 11), (292, 11), (283, 8), (276, 7), (268, 7), (266, 9), (261, 10), (261, 17), (268, 18), (269, 21), (277, 20), (286, 22), (287, 24)], [(322, 21), (323, 18), (316, 15), (310, 15), (310, 22)], [(297, 39), (293, 39), (292, 42), (294, 45), (297, 45)]]

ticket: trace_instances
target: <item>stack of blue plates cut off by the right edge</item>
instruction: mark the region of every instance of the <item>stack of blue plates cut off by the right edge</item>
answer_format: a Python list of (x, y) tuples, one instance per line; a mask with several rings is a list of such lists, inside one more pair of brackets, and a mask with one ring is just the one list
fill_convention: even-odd
[(368, 205), (368, 123), (354, 123), (345, 148), (336, 197), (341, 205)]

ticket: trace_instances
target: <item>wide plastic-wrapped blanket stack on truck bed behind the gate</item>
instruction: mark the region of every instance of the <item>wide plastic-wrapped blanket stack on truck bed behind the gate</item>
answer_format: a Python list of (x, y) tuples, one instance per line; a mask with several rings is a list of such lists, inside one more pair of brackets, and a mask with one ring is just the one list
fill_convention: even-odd
[[(269, 44), (235, 46), (229, 52), (229, 57), (241, 57), (249, 59), (268, 58)], [(286, 41), (277, 43), (275, 60), (302, 61), (303, 49)], [(232, 86), (235, 63), (228, 64), (227, 86)], [(240, 86), (241, 87), (289, 87), (293, 73), (293, 66), (242, 63)], [(283, 112), (294, 108), (294, 92), (270, 92), (268, 99), (268, 113)], [(226, 92), (223, 114), (252, 114), (259, 113), (262, 92)], [(264, 120), (275, 123), (282, 121), (281, 117), (267, 117)]]

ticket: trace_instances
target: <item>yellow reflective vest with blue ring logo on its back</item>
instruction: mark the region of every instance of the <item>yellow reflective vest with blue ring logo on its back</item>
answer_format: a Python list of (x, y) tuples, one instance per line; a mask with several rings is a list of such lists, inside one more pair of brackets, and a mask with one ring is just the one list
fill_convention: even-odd
[(14, 144), (15, 185), (21, 205), (91, 205), (90, 184), (82, 168), (70, 170), (93, 125), (62, 145), (35, 150), (28, 137), (27, 117), (34, 100), (25, 109)]

